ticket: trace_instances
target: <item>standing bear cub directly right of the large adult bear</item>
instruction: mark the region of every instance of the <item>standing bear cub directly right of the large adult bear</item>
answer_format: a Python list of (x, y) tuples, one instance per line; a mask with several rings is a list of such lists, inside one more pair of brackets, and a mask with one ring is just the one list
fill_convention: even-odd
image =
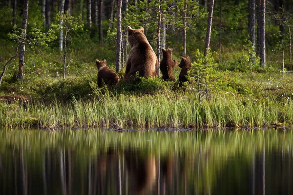
[(162, 49), (163, 59), (160, 63), (160, 70), (163, 75), (164, 80), (173, 80), (175, 82), (175, 77), (173, 75), (173, 68), (177, 65), (177, 60), (172, 60), (172, 49)]

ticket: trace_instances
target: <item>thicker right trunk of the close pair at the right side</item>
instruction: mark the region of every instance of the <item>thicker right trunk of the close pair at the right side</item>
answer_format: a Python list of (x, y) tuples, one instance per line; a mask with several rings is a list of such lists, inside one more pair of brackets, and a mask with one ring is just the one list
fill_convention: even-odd
[(260, 36), (259, 36), (259, 55), (260, 66), (266, 66), (266, 0), (259, 0), (259, 19), (260, 19)]

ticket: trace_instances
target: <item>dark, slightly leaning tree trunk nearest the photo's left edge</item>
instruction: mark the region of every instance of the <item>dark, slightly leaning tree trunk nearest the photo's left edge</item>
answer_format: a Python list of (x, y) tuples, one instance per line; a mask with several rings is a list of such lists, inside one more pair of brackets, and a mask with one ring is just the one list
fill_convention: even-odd
[[(27, 26), (27, 14), (28, 14), (28, 0), (23, 2), (23, 17), (22, 17), (22, 39), (25, 39), (26, 36), (26, 26)], [(25, 53), (25, 44), (21, 44), (20, 47), (20, 61), (19, 61), (19, 73), (17, 78), (23, 78), (23, 66), (24, 66), (24, 53)]]

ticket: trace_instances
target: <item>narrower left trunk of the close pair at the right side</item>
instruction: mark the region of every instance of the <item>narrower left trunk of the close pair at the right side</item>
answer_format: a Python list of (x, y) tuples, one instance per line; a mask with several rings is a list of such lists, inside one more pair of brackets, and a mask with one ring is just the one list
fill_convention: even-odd
[[(255, 52), (255, 0), (250, 0), (250, 15), (249, 15), (249, 36), (252, 43), (253, 52)], [(251, 56), (252, 63), (255, 63), (255, 57)]]

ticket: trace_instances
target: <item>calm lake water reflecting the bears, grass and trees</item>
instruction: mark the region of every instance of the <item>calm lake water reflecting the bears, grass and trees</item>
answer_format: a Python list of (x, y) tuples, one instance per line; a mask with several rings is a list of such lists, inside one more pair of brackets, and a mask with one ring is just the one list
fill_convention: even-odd
[(0, 194), (293, 194), (293, 133), (1, 130)]

